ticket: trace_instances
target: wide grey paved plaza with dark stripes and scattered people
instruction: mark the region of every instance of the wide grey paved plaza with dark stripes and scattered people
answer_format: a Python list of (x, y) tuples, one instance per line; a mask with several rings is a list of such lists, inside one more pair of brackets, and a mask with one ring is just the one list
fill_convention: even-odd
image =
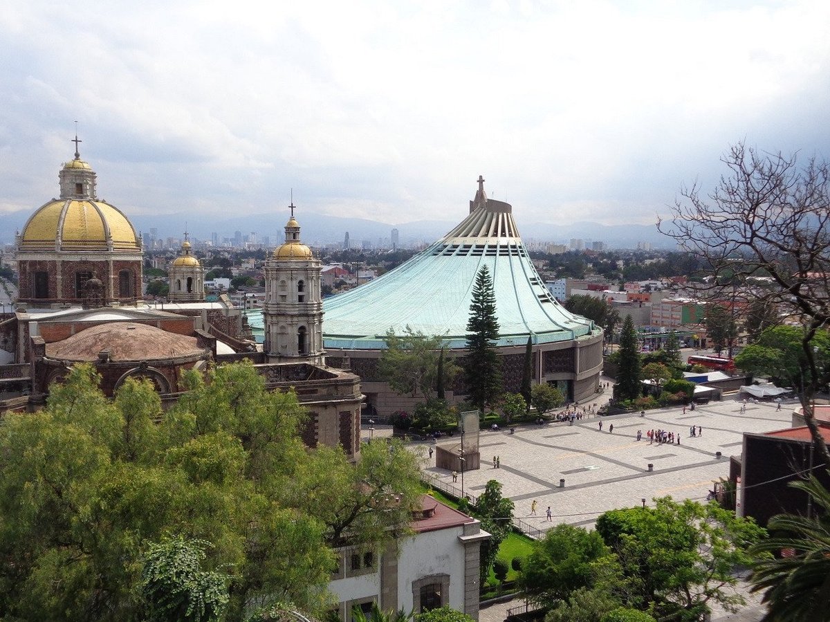
[[(598, 396), (597, 403), (607, 401), (608, 394)], [(481, 469), (464, 473), (465, 492), (477, 495), (487, 481), (496, 479), (515, 503), (515, 517), (543, 530), (559, 522), (593, 526), (603, 512), (640, 506), (642, 498), (647, 505), (653, 505), (653, 497), (666, 495), (705, 501), (713, 482), (728, 476), (729, 457), (740, 454), (742, 434), (789, 428), (793, 406), (784, 404), (776, 411), (774, 403), (750, 403), (741, 413), (740, 402), (728, 398), (686, 409), (685, 414), (682, 407), (671, 407), (648, 410), (644, 416), (594, 415), (574, 424), (523, 425), (514, 434), (482, 430)], [(691, 437), (692, 425), (701, 428), (701, 435)], [(673, 432), (680, 444), (649, 443), (649, 429)], [(640, 441), (637, 430), (642, 430)], [(440, 445), (457, 443), (457, 437), (439, 440)], [(493, 456), (499, 457), (500, 468), (493, 468)], [(434, 460), (427, 471), (452, 483), (452, 473), (435, 468)], [(564, 487), (559, 487), (560, 479)], [(455, 486), (461, 486), (461, 477)], [(548, 506), (550, 522), (545, 517)]]

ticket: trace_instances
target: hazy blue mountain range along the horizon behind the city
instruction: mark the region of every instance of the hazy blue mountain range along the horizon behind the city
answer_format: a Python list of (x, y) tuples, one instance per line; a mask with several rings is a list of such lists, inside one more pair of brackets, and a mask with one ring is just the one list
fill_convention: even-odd
[[(14, 232), (23, 227), (30, 213), (0, 214), (0, 242), (14, 240)], [(245, 214), (223, 220), (194, 220), (193, 213), (162, 214), (155, 216), (134, 216), (130, 220), (141, 233), (156, 229), (159, 238), (181, 238), (185, 223), (191, 238), (211, 239), (216, 232), (219, 239), (233, 238), (239, 231), (242, 235), (256, 233), (257, 239), (270, 238), (271, 244), (280, 242), (285, 235), (287, 214)], [(378, 241), (391, 238), (393, 228), (398, 229), (398, 239), (403, 247), (417, 243), (434, 242), (449, 232), (457, 222), (442, 220), (419, 220), (412, 223), (391, 225), (365, 218), (344, 218), (304, 212), (300, 218), (303, 241), (312, 245), (342, 243), (349, 232), (349, 243), (360, 247), (362, 242), (373, 246)], [(609, 248), (633, 248), (638, 242), (648, 242), (655, 248), (674, 248), (675, 243), (657, 231), (654, 225), (599, 223), (519, 223), (525, 241), (567, 244), (571, 238), (605, 242)]]

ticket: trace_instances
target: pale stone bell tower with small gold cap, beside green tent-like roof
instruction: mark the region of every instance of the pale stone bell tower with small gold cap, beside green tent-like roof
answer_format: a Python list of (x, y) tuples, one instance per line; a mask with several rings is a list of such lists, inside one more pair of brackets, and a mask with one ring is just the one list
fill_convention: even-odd
[(286, 223), (286, 242), (265, 264), (263, 350), (270, 360), (323, 364), (323, 299), (320, 259), (300, 242), (300, 223)]

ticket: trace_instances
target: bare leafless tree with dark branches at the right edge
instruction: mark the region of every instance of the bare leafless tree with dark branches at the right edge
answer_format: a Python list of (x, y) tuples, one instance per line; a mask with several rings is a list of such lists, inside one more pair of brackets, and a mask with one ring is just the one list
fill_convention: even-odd
[(801, 321), (812, 382), (800, 399), (813, 443), (830, 464), (813, 416), (822, 370), (810, 345), (817, 331), (830, 326), (830, 165), (815, 157), (799, 165), (795, 154), (765, 153), (743, 143), (721, 162), (728, 172), (715, 189), (703, 193), (698, 182), (681, 188), (671, 219), (660, 220), (657, 228), (704, 260), (713, 296), (722, 296), (726, 287), (735, 291), (736, 282), (766, 277), (773, 287), (754, 288), (751, 297)]

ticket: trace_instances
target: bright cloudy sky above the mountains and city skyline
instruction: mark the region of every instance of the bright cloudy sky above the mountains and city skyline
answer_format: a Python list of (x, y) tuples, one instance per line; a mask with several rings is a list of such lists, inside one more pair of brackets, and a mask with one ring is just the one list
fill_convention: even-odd
[[(291, 6), (289, 6), (291, 5)], [(830, 158), (830, 2), (0, 2), (0, 213), (78, 121), (128, 214), (652, 223), (730, 144)]]

